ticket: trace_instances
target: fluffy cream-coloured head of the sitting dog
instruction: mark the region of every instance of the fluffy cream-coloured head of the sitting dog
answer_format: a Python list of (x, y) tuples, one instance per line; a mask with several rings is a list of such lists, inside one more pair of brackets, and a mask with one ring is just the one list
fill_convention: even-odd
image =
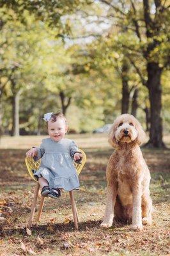
[(119, 143), (135, 141), (139, 145), (144, 142), (146, 134), (137, 119), (129, 114), (118, 116), (109, 132), (109, 143), (118, 147)]

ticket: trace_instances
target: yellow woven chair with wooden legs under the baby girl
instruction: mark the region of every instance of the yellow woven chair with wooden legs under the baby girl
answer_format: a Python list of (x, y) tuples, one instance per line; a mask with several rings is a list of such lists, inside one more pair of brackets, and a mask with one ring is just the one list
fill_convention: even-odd
[[(75, 168), (77, 170), (78, 175), (81, 173), (81, 170), (82, 170), (84, 164), (86, 163), (86, 154), (81, 149), (79, 149), (79, 151), (82, 153), (82, 162), (81, 162), (81, 164), (78, 164), (78, 163), (74, 162), (74, 165), (75, 165)], [(27, 170), (29, 172), (29, 175), (31, 176), (31, 178), (33, 180), (35, 180), (37, 182), (36, 188), (35, 188), (35, 195), (34, 195), (34, 199), (33, 199), (33, 205), (31, 207), (31, 214), (30, 214), (30, 218), (29, 218), (29, 221), (28, 221), (28, 225), (27, 225), (28, 228), (31, 228), (31, 225), (32, 225), (32, 222), (33, 222), (33, 216), (35, 214), (36, 201), (37, 201), (37, 198), (38, 198), (38, 191), (40, 189), (40, 184), (38, 183), (38, 181), (33, 176), (33, 171), (32, 170), (38, 170), (38, 168), (40, 166), (40, 163), (41, 163), (41, 159), (39, 161), (34, 161), (34, 159), (32, 157), (26, 157), (26, 166), (27, 166)], [(75, 224), (75, 228), (78, 229), (79, 220), (78, 220), (75, 200), (73, 198), (73, 191), (69, 191), (69, 194), (70, 194), (70, 200), (71, 200), (71, 204), (72, 204), (73, 221), (74, 221), (74, 224)], [(39, 211), (38, 211), (37, 221), (40, 220), (44, 200), (45, 200), (45, 197), (41, 196), (41, 202), (40, 202), (40, 208), (39, 208)]]

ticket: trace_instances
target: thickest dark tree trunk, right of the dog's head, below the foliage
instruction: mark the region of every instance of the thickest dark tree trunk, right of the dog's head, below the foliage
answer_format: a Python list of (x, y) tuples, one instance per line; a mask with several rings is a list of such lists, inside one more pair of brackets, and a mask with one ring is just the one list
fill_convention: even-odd
[(158, 63), (148, 63), (147, 65), (148, 81), (147, 87), (150, 97), (150, 140), (146, 143), (147, 147), (162, 148), (165, 147), (162, 141), (162, 88), (160, 78), (162, 68), (158, 67)]

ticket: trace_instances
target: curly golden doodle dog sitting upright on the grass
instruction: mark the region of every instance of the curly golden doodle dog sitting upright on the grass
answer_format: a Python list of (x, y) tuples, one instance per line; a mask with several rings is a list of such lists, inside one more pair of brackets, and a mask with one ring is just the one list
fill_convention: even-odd
[(107, 203), (101, 227), (112, 226), (113, 218), (132, 220), (132, 230), (151, 224), (150, 171), (139, 145), (145, 133), (137, 119), (118, 116), (109, 132), (109, 143), (116, 148), (107, 164)]

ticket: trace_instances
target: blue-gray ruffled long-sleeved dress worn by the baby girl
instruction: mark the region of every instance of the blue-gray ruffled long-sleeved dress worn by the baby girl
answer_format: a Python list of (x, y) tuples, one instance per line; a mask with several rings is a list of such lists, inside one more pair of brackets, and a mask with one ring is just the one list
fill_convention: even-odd
[(41, 158), (40, 168), (34, 172), (36, 179), (43, 177), (49, 182), (49, 188), (63, 188), (65, 191), (78, 189), (79, 179), (73, 165), (73, 154), (79, 152), (74, 141), (63, 138), (54, 141), (51, 138), (42, 140), (40, 148), (36, 147)]

